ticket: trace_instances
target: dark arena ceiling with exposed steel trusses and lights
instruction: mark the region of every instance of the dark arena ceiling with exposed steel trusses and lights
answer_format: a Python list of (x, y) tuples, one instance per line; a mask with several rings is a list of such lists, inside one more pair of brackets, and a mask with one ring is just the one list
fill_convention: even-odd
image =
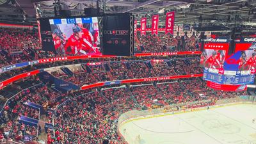
[[(0, 0), (0, 19), (35, 22), (36, 13), (38, 17), (53, 17), (54, 3), (52, 0)], [(60, 3), (62, 9), (70, 10), (72, 15), (83, 15), (84, 8), (96, 8), (97, 0), (60, 0)], [(175, 22), (182, 24), (256, 21), (256, 0), (99, 0), (99, 5), (102, 12), (132, 12), (136, 19), (149, 18), (161, 10), (160, 26), (164, 25), (164, 12), (173, 10)]]

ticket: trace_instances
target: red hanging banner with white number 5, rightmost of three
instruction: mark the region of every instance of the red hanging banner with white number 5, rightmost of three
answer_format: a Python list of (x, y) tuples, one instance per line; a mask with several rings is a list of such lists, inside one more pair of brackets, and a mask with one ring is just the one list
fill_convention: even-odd
[(173, 35), (174, 17), (175, 17), (174, 11), (166, 13), (165, 34), (170, 33), (171, 35)]

